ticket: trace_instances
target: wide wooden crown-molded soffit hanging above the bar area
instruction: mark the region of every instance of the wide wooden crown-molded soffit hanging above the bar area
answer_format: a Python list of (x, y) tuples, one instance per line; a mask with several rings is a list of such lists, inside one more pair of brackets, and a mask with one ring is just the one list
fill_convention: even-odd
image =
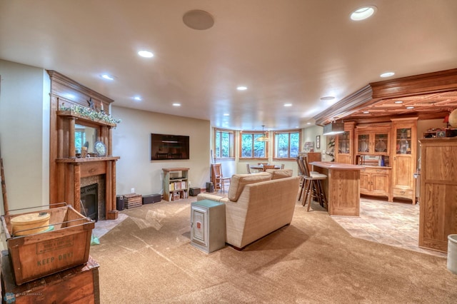
[[(394, 105), (396, 98), (407, 98), (414, 110), (406, 111), (406, 103)], [(457, 108), (457, 69), (450, 69), (368, 83), (313, 118), (319, 126), (341, 120), (389, 121), (392, 116), (433, 119), (454, 108)], [(370, 114), (362, 115), (363, 111)]]

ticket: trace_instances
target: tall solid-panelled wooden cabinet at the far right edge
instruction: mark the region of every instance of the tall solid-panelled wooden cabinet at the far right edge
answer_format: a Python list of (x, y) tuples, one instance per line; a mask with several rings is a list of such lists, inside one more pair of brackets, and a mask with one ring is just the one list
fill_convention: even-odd
[(422, 138), (419, 247), (446, 252), (457, 233), (457, 138)]

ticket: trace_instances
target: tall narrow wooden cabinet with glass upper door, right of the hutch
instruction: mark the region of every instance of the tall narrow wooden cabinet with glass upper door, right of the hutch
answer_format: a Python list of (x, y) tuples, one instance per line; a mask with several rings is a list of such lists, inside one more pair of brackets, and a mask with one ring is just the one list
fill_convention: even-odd
[(392, 118), (392, 196), (416, 204), (416, 127), (417, 118)]

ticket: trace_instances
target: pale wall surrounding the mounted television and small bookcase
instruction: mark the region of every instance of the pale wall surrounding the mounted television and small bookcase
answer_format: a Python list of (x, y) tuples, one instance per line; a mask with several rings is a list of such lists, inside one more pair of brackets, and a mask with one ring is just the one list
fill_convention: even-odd
[[(113, 130), (116, 163), (116, 193), (147, 195), (162, 193), (162, 168), (190, 168), (192, 187), (205, 188), (209, 181), (209, 121), (111, 106), (111, 115), (121, 123)], [(151, 161), (151, 133), (190, 136), (190, 159)]]

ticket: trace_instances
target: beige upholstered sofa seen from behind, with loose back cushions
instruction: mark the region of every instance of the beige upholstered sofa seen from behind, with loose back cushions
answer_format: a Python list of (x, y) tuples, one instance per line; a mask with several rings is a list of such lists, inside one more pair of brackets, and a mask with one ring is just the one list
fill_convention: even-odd
[(200, 193), (197, 201), (225, 203), (226, 243), (241, 249), (291, 223), (298, 183), (298, 176), (292, 177), (290, 169), (235, 174), (227, 198)]

